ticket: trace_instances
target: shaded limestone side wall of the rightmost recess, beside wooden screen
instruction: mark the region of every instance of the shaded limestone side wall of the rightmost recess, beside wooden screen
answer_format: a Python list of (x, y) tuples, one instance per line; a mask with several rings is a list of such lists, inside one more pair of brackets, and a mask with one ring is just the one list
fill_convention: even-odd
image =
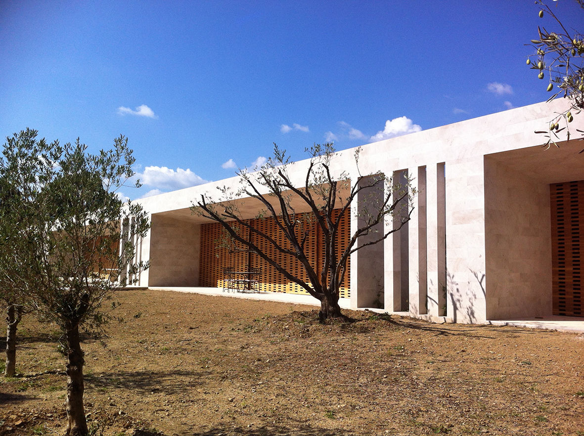
[(486, 316), (550, 315), (549, 184), (488, 156), (485, 180)]

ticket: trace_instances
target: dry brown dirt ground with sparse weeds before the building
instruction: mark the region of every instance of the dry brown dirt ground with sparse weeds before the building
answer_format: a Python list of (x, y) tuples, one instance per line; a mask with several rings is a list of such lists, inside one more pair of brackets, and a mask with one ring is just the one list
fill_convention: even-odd
[[(435, 325), (124, 291), (107, 347), (86, 339), (96, 435), (584, 435), (584, 335)], [(64, 432), (54, 327), (26, 319), (0, 382), (0, 435)], [(31, 376), (33, 375), (33, 376)]]

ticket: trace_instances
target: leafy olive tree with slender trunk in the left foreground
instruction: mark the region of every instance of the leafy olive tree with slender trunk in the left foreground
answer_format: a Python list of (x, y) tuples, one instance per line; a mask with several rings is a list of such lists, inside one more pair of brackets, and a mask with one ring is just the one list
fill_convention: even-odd
[(116, 193), (134, 175), (126, 138), (92, 155), (79, 139), (61, 146), (36, 141), (36, 135), (27, 130), (8, 138), (0, 175), (22, 203), (19, 238), (28, 252), (15, 262), (27, 271), (30, 305), (62, 331), (67, 435), (86, 435), (80, 333), (99, 333), (114, 291), (148, 267), (133, 262), (131, 241), (144, 236), (149, 223), (139, 205), (124, 205)]

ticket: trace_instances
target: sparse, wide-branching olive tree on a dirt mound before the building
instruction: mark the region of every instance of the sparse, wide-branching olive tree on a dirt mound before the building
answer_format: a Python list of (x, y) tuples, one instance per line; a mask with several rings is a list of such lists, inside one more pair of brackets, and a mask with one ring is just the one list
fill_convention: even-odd
[[(232, 249), (244, 249), (257, 254), (288, 280), (317, 298), (321, 302), (321, 320), (339, 318), (343, 317), (339, 291), (345, 279), (349, 256), (398, 231), (409, 220), (412, 212), (409, 199), (414, 192), (409, 183), (392, 183), (390, 177), (381, 173), (360, 177), (359, 183), (352, 183), (346, 172), (333, 175), (331, 160), (335, 157), (335, 150), (332, 144), (315, 144), (307, 151), (310, 162), (301, 182), (302, 187), (292, 181), (291, 167), (296, 164), (290, 162), (286, 152), (274, 144), (273, 157), (258, 171), (238, 171), (241, 189), (237, 192), (220, 189), (220, 198), (202, 195), (196, 203), (193, 202), (191, 209), (201, 217), (220, 223), (227, 232), (227, 245)], [(360, 149), (357, 149), (354, 155), (357, 173), (359, 152)], [(372, 192), (381, 193), (381, 196), (371, 195)], [(244, 218), (238, 199), (248, 197), (258, 204), (260, 211), (256, 218), (273, 219), (285, 243)], [(351, 205), (357, 200), (360, 201), (357, 205), (359, 226), (351, 229), (346, 248), (339, 255), (337, 245), (340, 240), (340, 220), (346, 211), (350, 212)], [(306, 211), (308, 219), (306, 215), (301, 215)], [(394, 217), (398, 217), (398, 225), (390, 225), (380, 231), (380, 225)], [(315, 227), (321, 232), (324, 241), (324, 254), (318, 266), (311, 263), (312, 249), (307, 244)], [(281, 255), (270, 256), (274, 250)], [(302, 264), (308, 280), (303, 280), (286, 268), (282, 261), (286, 256)]]

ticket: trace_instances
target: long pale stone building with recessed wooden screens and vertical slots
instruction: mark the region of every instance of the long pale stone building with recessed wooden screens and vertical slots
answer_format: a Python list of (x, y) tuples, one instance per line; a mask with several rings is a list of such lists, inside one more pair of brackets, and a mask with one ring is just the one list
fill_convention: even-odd
[[(535, 133), (565, 107), (558, 99), (364, 145), (361, 174), (409, 176), (419, 194), (407, 226), (352, 254), (342, 293), (350, 307), (463, 323), (583, 317), (584, 142), (544, 149)], [(584, 116), (569, 127), (580, 137)], [(332, 169), (358, 183), (353, 154), (336, 153)], [(297, 186), (307, 162), (294, 164)], [(140, 200), (152, 228), (138, 250), (151, 262), (138, 285), (221, 287), (223, 267), (257, 263), (215, 250), (217, 224), (189, 209), (201, 194), (237, 184), (233, 177)], [(253, 219), (259, 205), (249, 200), (238, 201)], [(354, 210), (345, 219), (348, 235), (357, 225)], [(318, 235), (313, 243), (318, 261)], [(265, 266), (263, 273), (263, 291), (302, 292)]]

